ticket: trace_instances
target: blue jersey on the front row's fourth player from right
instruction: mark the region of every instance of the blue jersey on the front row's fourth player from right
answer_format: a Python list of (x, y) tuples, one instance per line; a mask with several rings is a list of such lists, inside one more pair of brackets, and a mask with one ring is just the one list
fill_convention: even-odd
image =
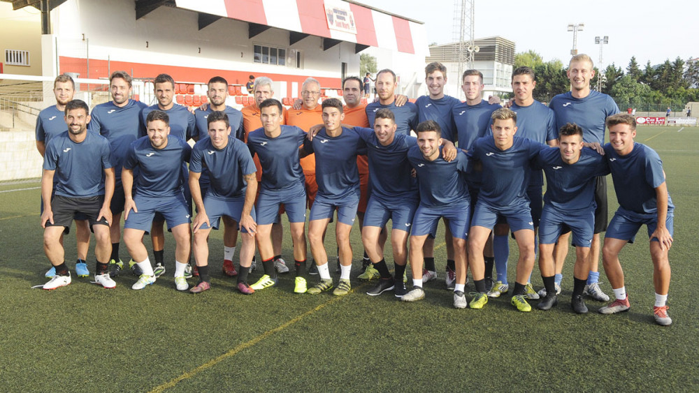
[(417, 172), (417, 184), (420, 190), (420, 205), (426, 207), (444, 207), (468, 200), (468, 187), (463, 179), (468, 158), (459, 151), (456, 159), (444, 161), (442, 148), (435, 161), (427, 161), (417, 144), (408, 150), (408, 160)]

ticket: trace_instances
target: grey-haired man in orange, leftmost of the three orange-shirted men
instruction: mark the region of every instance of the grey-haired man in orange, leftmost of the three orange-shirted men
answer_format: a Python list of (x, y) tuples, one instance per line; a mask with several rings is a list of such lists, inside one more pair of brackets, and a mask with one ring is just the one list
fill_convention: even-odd
[[(254, 103), (247, 105), (240, 110), (240, 112), (243, 112), (243, 128), (245, 129), (245, 138), (243, 139), (243, 142), (245, 143), (247, 143), (248, 134), (257, 130), (257, 128), (262, 128), (259, 105), (262, 103), (262, 101), (274, 96), (272, 80), (266, 76), (255, 78), (253, 91), (255, 96)], [(282, 107), (282, 124), (284, 124), (284, 112), (286, 111), (284, 110), (284, 107)], [(257, 168), (257, 172), (255, 172), (255, 174), (257, 175), (257, 183), (259, 185), (259, 183), (262, 181), (262, 166), (260, 165), (259, 158), (257, 158), (257, 156), (254, 156), (253, 159), (255, 162), (255, 167)], [(259, 192), (260, 187), (258, 186), (257, 195), (259, 195)], [(289, 272), (289, 267), (287, 267), (287, 262), (282, 258), (282, 224), (279, 222), (279, 218), (277, 218), (276, 221), (277, 222), (272, 224), (271, 231), (274, 267), (279, 273), (287, 273)], [(250, 266), (252, 269), (251, 272), (254, 272), (254, 270), (257, 268), (257, 263), (255, 262), (254, 256), (252, 257), (252, 265)]]

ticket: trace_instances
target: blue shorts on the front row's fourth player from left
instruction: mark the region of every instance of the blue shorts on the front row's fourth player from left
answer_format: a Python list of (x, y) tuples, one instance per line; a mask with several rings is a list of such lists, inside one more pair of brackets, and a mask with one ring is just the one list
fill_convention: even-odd
[(262, 188), (257, 197), (257, 225), (269, 225), (276, 223), (279, 216), (279, 207), (284, 205), (289, 223), (305, 223), (305, 185), (299, 181), (290, 188), (270, 191)]

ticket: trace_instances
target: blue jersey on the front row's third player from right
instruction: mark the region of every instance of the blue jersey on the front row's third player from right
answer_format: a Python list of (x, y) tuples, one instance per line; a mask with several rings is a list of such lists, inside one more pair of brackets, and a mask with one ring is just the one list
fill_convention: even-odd
[(493, 137), (479, 138), (468, 151), (472, 161), (482, 163), (482, 186), (478, 201), (498, 208), (526, 202), (526, 188), (531, 174), (531, 160), (545, 145), (514, 137), (510, 149), (500, 150)]

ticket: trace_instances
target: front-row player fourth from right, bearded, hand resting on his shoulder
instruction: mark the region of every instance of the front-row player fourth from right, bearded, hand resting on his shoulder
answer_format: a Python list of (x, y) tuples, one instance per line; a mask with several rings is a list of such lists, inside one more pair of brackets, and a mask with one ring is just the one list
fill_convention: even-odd
[(417, 172), (420, 203), (413, 219), (410, 237), (410, 267), (412, 270), (412, 290), (405, 294), (403, 302), (424, 299), (422, 290), (422, 252), (428, 235), (434, 237), (440, 218), (451, 227), (452, 246), (456, 268), (454, 285), (454, 307), (466, 307), (466, 236), (470, 208), (468, 188), (463, 179), (468, 158), (463, 151), (453, 161), (446, 161), (440, 154), (442, 131), (434, 120), (423, 121), (417, 126), (417, 145), (408, 151), (408, 161)]

